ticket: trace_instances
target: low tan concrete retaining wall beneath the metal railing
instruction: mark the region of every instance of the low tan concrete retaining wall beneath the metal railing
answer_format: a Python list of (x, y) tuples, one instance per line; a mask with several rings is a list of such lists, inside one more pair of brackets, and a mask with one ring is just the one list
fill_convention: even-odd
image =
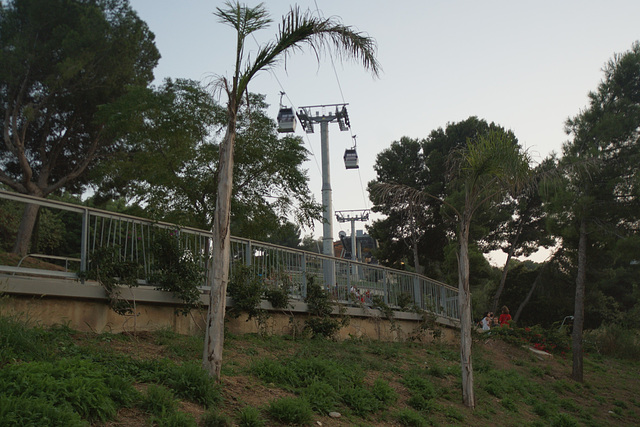
[[(202, 331), (209, 304), (208, 293), (203, 293), (203, 309), (192, 310), (188, 315), (176, 312), (180, 302), (170, 293), (151, 287), (124, 288), (122, 297), (135, 302), (136, 315), (123, 316), (108, 305), (104, 289), (96, 282), (41, 278), (28, 276), (0, 276), (0, 314), (17, 316), (42, 325), (66, 324), (79, 331), (133, 332), (171, 329), (180, 334), (196, 334)], [(227, 301), (233, 305), (232, 300)], [(296, 335), (309, 318), (307, 306), (302, 301), (292, 301), (288, 310), (277, 310), (267, 301), (262, 308), (268, 316), (247, 320), (227, 316), (227, 329), (236, 334), (268, 333)], [(345, 307), (343, 315), (349, 316), (349, 324), (339, 332), (339, 339), (368, 338), (382, 341), (415, 339), (430, 341), (430, 330), (423, 329), (422, 318), (415, 313), (394, 312), (392, 321), (384, 319), (379, 310), (366, 307)], [(336, 310), (335, 315), (339, 313)], [(445, 340), (454, 340), (457, 326), (450, 319), (437, 318), (438, 329)]]

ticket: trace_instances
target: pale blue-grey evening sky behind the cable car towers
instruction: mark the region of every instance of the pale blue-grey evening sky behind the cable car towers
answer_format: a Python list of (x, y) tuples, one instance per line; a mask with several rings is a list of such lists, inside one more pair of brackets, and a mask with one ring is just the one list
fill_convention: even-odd
[[(156, 37), (162, 58), (155, 84), (165, 78), (211, 82), (230, 77), (235, 30), (213, 14), (222, 1), (130, 0)], [(249, 6), (258, 2), (248, 1)], [(333, 17), (377, 42), (382, 73), (360, 64), (302, 50), (272, 71), (258, 74), (251, 92), (266, 95), (269, 114), (283, 103), (348, 104), (351, 130), (329, 125), (334, 211), (371, 208), (367, 183), (376, 178), (376, 155), (403, 136), (426, 138), (448, 123), (477, 116), (512, 130), (539, 162), (560, 153), (567, 118), (588, 105), (603, 66), (640, 40), (638, 0), (281, 0), (264, 2), (272, 25), (250, 37), (247, 52), (273, 40), (281, 17), (297, 4)], [(224, 101), (224, 100), (221, 100)], [(329, 111), (327, 111), (329, 112)], [(320, 132), (307, 135), (309, 187), (322, 200)], [(342, 156), (355, 135), (360, 168), (346, 170)], [(375, 219), (375, 216), (372, 216)], [(362, 222), (356, 223), (362, 229)], [(350, 234), (349, 223), (334, 222)], [(315, 230), (304, 234), (322, 235)]]

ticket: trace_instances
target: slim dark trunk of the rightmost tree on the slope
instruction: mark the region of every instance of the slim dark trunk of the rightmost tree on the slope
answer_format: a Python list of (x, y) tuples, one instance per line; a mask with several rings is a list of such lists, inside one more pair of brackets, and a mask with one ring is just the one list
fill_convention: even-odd
[(571, 378), (582, 382), (582, 328), (584, 326), (584, 295), (587, 278), (587, 220), (580, 221), (580, 240), (578, 242), (578, 276), (576, 277), (576, 300), (573, 312), (573, 333), (571, 347), (573, 352), (573, 370)]

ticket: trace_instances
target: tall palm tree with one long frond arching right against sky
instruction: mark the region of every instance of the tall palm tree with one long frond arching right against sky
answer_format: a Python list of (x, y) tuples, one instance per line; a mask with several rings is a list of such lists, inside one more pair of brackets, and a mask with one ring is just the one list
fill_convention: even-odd
[(289, 54), (308, 46), (316, 57), (325, 49), (333, 48), (339, 56), (362, 63), (374, 76), (380, 72), (375, 57), (376, 43), (371, 37), (344, 26), (335, 19), (317, 18), (310, 12), (301, 13), (292, 8), (282, 18), (275, 40), (261, 46), (255, 57), (245, 58), (246, 38), (253, 32), (266, 28), (271, 19), (263, 3), (247, 7), (239, 2), (226, 2), (214, 13), (220, 22), (236, 30), (236, 64), (231, 81), (221, 78), (219, 87), (226, 92), (227, 129), (220, 144), (220, 164), (218, 167), (218, 189), (213, 225), (213, 257), (210, 277), (211, 294), (207, 332), (203, 354), (203, 367), (216, 378), (220, 378), (222, 348), (224, 343), (224, 314), (226, 308), (227, 283), (229, 279), (229, 223), (231, 189), (233, 184), (233, 147), (236, 137), (238, 109), (247, 93), (251, 79), (260, 71), (274, 67)]

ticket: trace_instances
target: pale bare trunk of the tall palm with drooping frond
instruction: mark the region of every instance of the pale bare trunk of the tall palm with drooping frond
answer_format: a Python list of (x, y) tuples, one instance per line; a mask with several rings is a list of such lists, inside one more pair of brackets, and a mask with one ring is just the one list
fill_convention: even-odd
[(233, 146), (235, 142), (235, 121), (230, 119), (227, 133), (220, 145), (220, 165), (218, 167), (218, 194), (213, 225), (213, 256), (209, 313), (204, 342), (202, 366), (209, 375), (220, 380), (222, 369), (222, 349), (224, 345), (224, 315), (229, 282), (231, 189), (233, 186)]

